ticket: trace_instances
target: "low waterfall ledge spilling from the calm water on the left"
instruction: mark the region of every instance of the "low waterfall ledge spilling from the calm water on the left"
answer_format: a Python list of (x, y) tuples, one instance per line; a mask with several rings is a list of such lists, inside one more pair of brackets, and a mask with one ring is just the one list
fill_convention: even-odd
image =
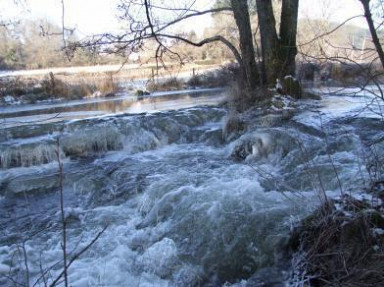
[[(4, 142), (0, 151), (0, 168), (38, 166), (55, 161), (56, 142), (51, 136), (42, 136), (40, 130), (54, 133), (60, 139), (61, 157), (94, 157), (109, 151), (124, 150), (129, 154), (154, 150), (174, 143), (194, 141), (218, 142), (218, 123), (225, 115), (223, 109), (212, 109), (204, 113), (201, 109), (143, 114), (138, 116), (108, 117), (69, 122), (66, 125), (39, 125), (34, 128), (21, 127), (30, 136), (24, 142), (14, 133), (11, 138), (20, 141)], [(215, 122), (217, 126), (202, 127)], [(49, 128), (49, 129), (48, 129)]]

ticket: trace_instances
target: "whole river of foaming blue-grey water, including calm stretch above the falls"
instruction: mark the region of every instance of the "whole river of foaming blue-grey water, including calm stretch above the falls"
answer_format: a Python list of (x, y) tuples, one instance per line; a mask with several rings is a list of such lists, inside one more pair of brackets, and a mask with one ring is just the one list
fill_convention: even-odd
[(0, 286), (45, 286), (62, 270), (58, 155), (69, 258), (107, 227), (70, 266), (71, 286), (283, 286), (268, 270), (289, 271), (282, 246), (319, 192), (380, 176), (382, 104), (324, 96), (290, 120), (255, 111), (224, 137), (222, 99), (1, 110)]

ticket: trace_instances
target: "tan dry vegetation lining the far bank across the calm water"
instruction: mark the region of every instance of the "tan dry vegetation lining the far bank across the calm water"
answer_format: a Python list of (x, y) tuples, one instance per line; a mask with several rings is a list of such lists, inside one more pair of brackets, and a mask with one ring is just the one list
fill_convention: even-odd
[[(103, 67), (101, 67), (101, 70)], [(32, 104), (44, 100), (75, 100), (88, 97), (114, 96), (123, 89), (143, 91), (168, 91), (196, 87), (217, 87), (223, 80), (217, 64), (201, 63), (201, 65), (177, 66), (167, 64), (166, 67), (144, 65), (142, 67), (121, 67), (114, 72), (49, 72), (45, 75), (8, 76), (0, 78), (0, 105)], [(192, 72), (193, 71), (193, 72)], [(192, 78), (189, 78), (189, 75)], [(199, 86), (191, 79), (199, 79)], [(135, 84), (148, 79), (144, 87)], [(191, 82), (191, 83), (190, 83)], [(197, 83), (197, 82), (196, 82)], [(137, 86), (139, 85), (139, 86)]]

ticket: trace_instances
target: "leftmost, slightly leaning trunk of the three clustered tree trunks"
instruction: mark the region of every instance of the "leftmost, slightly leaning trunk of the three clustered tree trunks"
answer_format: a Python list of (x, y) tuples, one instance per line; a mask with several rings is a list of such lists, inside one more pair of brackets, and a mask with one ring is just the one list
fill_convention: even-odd
[(253, 47), (251, 21), (247, 0), (231, 0), (233, 15), (239, 29), (240, 52), (242, 58), (242, 70), (245, 73), (246, 85), (249, 89), (255, 89), (258, 82), (258, 72)]

